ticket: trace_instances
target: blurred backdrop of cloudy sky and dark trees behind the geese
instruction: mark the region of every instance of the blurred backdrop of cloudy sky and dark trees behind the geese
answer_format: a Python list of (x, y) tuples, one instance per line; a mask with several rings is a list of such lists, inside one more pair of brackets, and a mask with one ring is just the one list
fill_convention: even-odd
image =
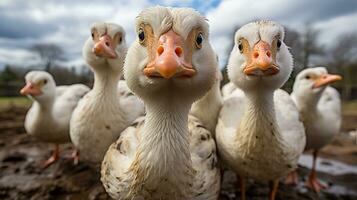
[(23, 75), (31, 69), (49, 71), (59, 85), (90, 85), (92, 74), (81, 56), (90, 25), (119, 23), (130, 44), (136, 15), (157, 4), (193, 7), (207, 17), (222, 70), (237, 28), (256, 19), (276, 20), (286, 27), (285, 42), (295, 58), (295, 71), (285, 89), (290, 90), (300, 70), (322, 65), (344, 76), (336, 85), (344, 100), (357, 98), (355, 0), (1, 0), (0, 96), (17, 96)]

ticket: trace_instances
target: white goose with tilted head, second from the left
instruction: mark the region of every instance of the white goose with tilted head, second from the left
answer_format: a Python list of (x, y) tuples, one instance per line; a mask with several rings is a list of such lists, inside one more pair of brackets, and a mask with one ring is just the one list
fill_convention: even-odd
[[(80, 158), (95, 166), (100, 165), (110, 144), (138, 117), (138, 112), (131, 112), (133, 105), (127, 107), (122, 100), (128, 92), (118, 91), (126, 51), (125, 31), (114, 23), (94, 23), (83, 46), (83, 57), (94, 72), (94, 85), (73, 112), (70, 136)], [(134, 109), (140, 108), (144, 106), (139, 104)]]

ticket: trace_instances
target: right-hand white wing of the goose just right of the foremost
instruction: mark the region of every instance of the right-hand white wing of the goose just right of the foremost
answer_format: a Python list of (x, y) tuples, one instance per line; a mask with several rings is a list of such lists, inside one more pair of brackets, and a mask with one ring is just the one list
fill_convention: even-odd
[(305, 128), (300, 120), (299, 111), (290, 95), (281, 89), (274, 93), (274, 105), (282, 137), (292, 148), (291, 153), (294, 155), (291, 158), (297, 159), (306, 145)]

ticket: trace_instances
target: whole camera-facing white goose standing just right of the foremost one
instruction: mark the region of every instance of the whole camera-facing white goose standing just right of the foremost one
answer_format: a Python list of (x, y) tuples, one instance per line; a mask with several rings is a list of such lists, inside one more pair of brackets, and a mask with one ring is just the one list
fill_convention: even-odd
[(241, 199), (246, 178), (269, 181), (275, 199), (279, 178), (297, 167), (305, 147), (299, 112), (279, 89), (293, 69), (283, 39), (284, 28), (268, 20), (246, 24), (234, 37), (228, 76), (237, 89), (223, 100), (216, 142), (222, 162), (238, 174)]

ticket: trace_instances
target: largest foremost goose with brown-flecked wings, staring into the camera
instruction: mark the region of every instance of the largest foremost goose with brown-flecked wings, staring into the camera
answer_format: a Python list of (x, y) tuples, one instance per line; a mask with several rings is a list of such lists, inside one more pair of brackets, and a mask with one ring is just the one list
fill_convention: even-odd
[(191, 8), (146, 8), (136, 18), (124, 77), (145, 104), (102, 162), (113, 199), (217, 199), (220, 171), (208, 129), (189, 110), (215, 82), (208, 23)]

